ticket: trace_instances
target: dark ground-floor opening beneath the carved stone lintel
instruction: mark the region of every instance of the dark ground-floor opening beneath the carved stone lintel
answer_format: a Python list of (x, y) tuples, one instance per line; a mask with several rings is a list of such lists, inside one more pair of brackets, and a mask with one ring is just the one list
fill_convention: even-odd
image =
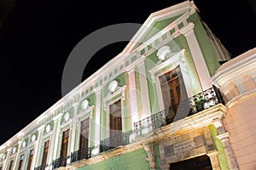
[(208, 156), (198, 156), (185, 161), (171, 163), (170, 170), (211, 170), (212, 164)]

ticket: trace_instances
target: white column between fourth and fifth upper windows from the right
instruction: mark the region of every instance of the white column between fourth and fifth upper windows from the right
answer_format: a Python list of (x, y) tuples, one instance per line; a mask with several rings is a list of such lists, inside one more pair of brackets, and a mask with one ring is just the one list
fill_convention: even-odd
[(47, 164), (50, 165), (49, 169), (51, 169), (52, 161), (55, 160), (53, 158), (54, 150), (55, 150), (55, 140), (58, 139), (58, 137), (59, 137), (59, 133), (57, 133), (57, 128), (59, 128), (59, 122), (61, 123), (61, 116), (62, 116), (62, 114), (59, 114), (53, 118), (54, 127), (51, 132), (51, 138), (50, 138), (50, 143), (49, 143), (49, 159), (47, 162)]

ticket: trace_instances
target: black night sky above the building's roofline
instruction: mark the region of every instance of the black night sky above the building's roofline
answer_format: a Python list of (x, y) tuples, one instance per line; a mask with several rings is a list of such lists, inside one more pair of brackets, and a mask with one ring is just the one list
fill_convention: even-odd
[[(81, 39), (103, 26), (143, 24), (149, 14), (183, 1), (112, 2), (15, 1), (0, 28), (0, 144), (61, 99), (62, 71)], [(253, 0), (195, 0), (195, 5), (232, 57), (256, 47)], [(102, 48), (86, 66), (84, 77), (119, 54), (126, 43)]]

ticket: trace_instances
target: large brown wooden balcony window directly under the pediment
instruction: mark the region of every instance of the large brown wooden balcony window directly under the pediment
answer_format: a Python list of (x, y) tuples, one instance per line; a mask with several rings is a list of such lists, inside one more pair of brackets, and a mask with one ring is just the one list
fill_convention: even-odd
[(160, 76), (160, 87), (166, 110), (166, 123), (171, 123), (174, 121), (179, 103), (187, 99), (187, 93), (179, 66)]

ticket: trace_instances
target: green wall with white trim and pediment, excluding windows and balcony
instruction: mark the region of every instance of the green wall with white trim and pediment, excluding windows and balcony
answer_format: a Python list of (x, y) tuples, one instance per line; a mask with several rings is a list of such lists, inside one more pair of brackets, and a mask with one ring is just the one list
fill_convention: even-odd
[[(159, 77), (180, 66), (186, 96), (191, 98), (212, 88), (211, 76), (219, 67), (218, 61), (227, 59), (230, 59), (229, 54), (201, 21), (193, 2), (179, 3), (155, 12), (121, 54), (3, 144), (0, 148), (0, 166), (8, 169), (10, 161), (14, 160), (15, 168), (18, 168), (20, 156), (24, 155), (21, 169), (26, 169), (30, 150), (34, 150), (31, 169), (40, 166), (44, 142), (49, 140), (46, 168), (53, 168), (53, 161), (61, 155), (62, 133), (69, 129), (67, 166), (81, 170), (165, 169), (159, 149), (161, 139), (153, 142), (147, 150), (148, 140), (137, 138), (133, 133), (134, 123), (165, 110)], [(119, 99), (121, 131), (126, 134), (127, 147), (130, 149), (117, 155), (109, 152), (113, 156), (108, 156), (108, 151), (100, 151), (100, 144), (110, 135), (109, 106)], [(90, 120), (90, 159), (106, 156), (94, 161), (96, 163), (89, 161), (76, 165), (71, 163), (70, 156), (79, 150), (80, 122), (87, 118)], [(207, 122), (205, 126), (208, 127), (209, 123), (213, 122)], [(222, 146), (215, 139), (218, 135), (215, 129), (211, 129), (218, 150)], [(132, 144), (137, 149), (131, 149)], [(13, 151), (13, 148), (17, 149)], [(152, 153), (150, 150), (153, 150)], [(150, 156), (154, 156), (153, 161)], [(218, 158), (226, 159), (223, 149), (218, 152)], [(227, 161), (220, 162), (222, 169), (228, 168)]]

